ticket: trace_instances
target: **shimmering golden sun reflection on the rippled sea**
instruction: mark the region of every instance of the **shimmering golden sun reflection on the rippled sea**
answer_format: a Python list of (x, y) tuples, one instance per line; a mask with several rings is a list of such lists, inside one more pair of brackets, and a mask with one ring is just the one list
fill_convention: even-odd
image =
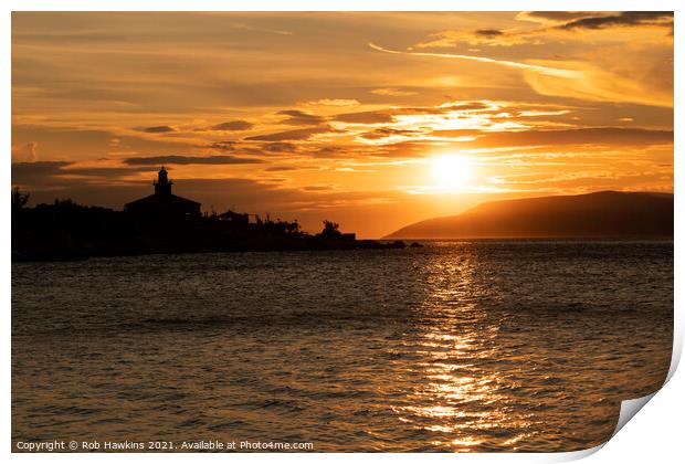
[(471, 263), (436, 262), (429, 272), (433, 292), (420, 308), (420, 326), (407, 348), (422, 355), (415, 363), (420, 381), (398, 419), (426, 434), (426, 442), (454, 452), (509, 446), (531, 436), (529, 414), (512, 404), (506, 391), (515, 383), (488, 360), (496, 358), (499, 326), (473, 303)]

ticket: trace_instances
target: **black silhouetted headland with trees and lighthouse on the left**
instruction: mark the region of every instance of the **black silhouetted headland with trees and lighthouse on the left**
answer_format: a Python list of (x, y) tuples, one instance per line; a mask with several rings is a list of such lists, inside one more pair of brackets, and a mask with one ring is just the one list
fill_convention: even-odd
[(124, 211), (85, 207), (72, 200), (27, 208), (29, 194), (12, 191), (12, 261), (59, 261), (151, 253), (359, 250), (404, 247), (402, 241), (357, 240), (324, 221), (308, 234), (297, 221), (226, 211), (202, 214), (200, 203), (171, 193), (162, 167), (155, 193), (126, 203)]

